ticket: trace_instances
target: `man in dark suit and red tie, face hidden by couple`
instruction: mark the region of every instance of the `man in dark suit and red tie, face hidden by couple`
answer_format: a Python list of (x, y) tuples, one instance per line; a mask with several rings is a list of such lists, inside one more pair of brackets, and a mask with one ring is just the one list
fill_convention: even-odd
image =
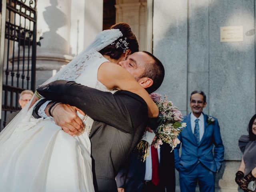
[[(153, 163), (152, 150), (159, 154), (159, 165)], [(166, 143), (163, 143), (160, 149), (152, 146), (145, 162), (138, 159), (138, 154), (133, 153), (129, 165), (116, 176), (118, 192), (175, 192), (174, 152), (171, 150), (170, 145)], [(158, 173), (154, 173), (154, 166), (157, 167)]]

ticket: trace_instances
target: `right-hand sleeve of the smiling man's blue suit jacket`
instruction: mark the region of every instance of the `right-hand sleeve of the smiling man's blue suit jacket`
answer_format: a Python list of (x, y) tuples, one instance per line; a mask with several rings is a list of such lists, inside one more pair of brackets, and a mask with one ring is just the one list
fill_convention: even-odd
[(222, 143), (220, 135), (220, 126), (218, 120), (215, 119), (215, 128), (214, 128), (214, 161), (217, 166), (217, 170), (220, 170), (221, 164), (224, 160), (224, 145)]

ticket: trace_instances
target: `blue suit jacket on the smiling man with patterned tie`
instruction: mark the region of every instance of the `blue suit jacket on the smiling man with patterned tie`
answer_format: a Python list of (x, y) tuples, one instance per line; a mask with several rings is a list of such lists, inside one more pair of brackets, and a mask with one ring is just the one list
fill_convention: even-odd
[[(191, 113), (190, 113), (191, 114)], [(191, 129), (190, 114), (184, 117), (183, 122), (187, 124), (178, 138), (182, 142), (182, 154), (179, 156), (180, 144), (174, 148), (175, 168), (179, 172), (189, 173), (194, 170), (200, 161), (204, 166), (213, 172), (220, 170), (224, 160), (224, 146), (220, 136), (220, 126), (218, 120), (207, 125), (208, 116), (204, 114), (204, 135), (197, 144)], [(214, 154), (212, 148), (214, 147)]]

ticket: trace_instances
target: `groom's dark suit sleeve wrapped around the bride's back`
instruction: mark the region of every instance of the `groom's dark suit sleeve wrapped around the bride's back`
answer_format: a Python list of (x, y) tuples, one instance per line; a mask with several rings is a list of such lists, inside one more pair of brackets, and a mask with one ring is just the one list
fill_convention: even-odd
[(132, 132), (148, 115), (146, 102), (128, 91), (112, 94), (74, 81), (57, 80), (40, 86), (38, 93), (48, 100), (76, 106), (90, 118), (123, 132)]

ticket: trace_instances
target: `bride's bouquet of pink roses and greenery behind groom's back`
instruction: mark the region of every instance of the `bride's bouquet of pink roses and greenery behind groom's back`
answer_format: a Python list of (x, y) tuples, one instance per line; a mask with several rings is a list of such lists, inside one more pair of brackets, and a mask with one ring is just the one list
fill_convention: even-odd
[(173, 150), (180, 143), (178, 135), (186, 127), (186, 123), (181, 123), (183, 118), (181, 112), (166, 96), (164, 99), (157, 93), (152, 93), (150, 96), (159, 109), (158, 127), (154, 133), (146, 132), (135, 148), (135, 152), (139, 154), (139, 158), (143, 162), (149, 155), (150, 142), (155, 137), (156, 139), (152, 142), (155, 148), (160, 148), (162, 142), (166, 142)]

